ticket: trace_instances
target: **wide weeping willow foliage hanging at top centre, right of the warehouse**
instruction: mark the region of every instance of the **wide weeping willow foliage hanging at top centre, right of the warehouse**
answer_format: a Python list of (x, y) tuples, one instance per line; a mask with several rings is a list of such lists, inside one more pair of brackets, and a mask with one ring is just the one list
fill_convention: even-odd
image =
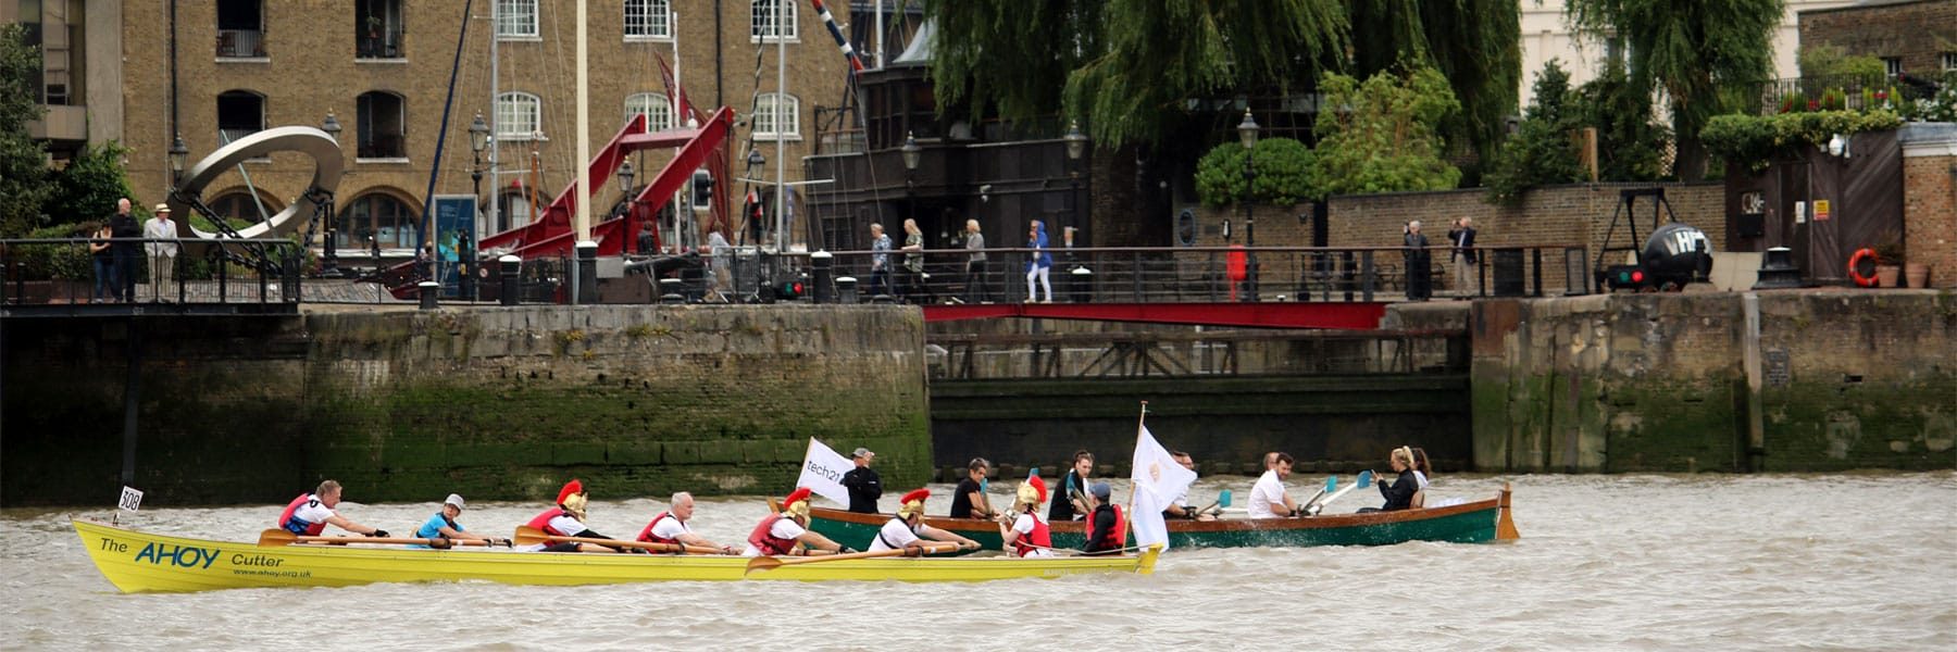
[(926, 16), (941, 108), (1035, 119), (1065, 106), (1110, 145), (1159, 141), (1192, 98), (1433, 65), (1464, 104), (1444, 131), (1491, 151), (1521, 78), (1513, 0), (928, 0)]

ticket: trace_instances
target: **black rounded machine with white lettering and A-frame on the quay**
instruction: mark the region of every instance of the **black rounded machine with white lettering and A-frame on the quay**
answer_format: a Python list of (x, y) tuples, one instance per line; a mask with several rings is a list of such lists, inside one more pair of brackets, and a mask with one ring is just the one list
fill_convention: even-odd
[[(1652, 204), (1652, 229), (1638, 243), (1638, 198)], [(1663, 217), (1663, 219), (1661, 219)], [(1616, 227), (1622, 223), (1630, 233), (1622, 247), (1613, 247)], [(1611, 253), (1632, 253), (1634, 262), (1613, 264)], [(1624, 256), (1616, 256), (1624, 260)], [(1634, 292), (1675, 292), (1689, 282), (1707, 282), (1712, 274), (1712, 243), (1705, 231), (1677, 221), (1671, 202), (1665, 202), (1665, 188), (1620, 190), (1616, 211), (1611, 213), (1611, 229), (1605, 231), (1603, 247), (1597, 255), (1597, 286), (1609, 290)]]

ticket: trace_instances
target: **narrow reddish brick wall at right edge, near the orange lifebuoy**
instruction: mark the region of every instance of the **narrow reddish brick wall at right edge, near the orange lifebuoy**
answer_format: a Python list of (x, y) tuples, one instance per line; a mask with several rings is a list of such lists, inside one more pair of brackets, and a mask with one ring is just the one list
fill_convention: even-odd
[(1930, 266), (1930, 286), (1957, 288), (1957, 155), (1904, 155), (1902, 231), (1906, 260)]

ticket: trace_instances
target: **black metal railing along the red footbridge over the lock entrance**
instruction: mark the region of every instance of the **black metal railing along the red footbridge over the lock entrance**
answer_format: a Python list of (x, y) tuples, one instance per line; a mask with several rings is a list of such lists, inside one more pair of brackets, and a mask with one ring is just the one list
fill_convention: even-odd
[[(1399, 302), (1591, 292), (1589, 255), (1581, 245), (1476, 251), (1479, 260), (1462, 282), (1454, 280), (1450, 249), (1444, 247), (1427, 249), (1427, 264), (1411, 264), (1411, 274), (1409, 262), (1417, 258), (1403, 247), (1100, 247), (986, 249), (986, 260), (975, 266), (967, 266), (973, 253), (965, 249), (838, 251), (830, 253), (828, 276), (836, 286), (830, 296), (845, 302), (883, 296), (904, 303)], [(1027, 260), (1035, 255), (1051, 256), (1043, 282), (1037, 276), (1027, 280)], [(916, 264), (910, 264), (912, 256)], [(744, 286), (750, 276), (769, 288), (818, 282), (806, 253), (781, 258), (771, 272), (750, 272), (740, 256), (730, 255), (736, 284)]]

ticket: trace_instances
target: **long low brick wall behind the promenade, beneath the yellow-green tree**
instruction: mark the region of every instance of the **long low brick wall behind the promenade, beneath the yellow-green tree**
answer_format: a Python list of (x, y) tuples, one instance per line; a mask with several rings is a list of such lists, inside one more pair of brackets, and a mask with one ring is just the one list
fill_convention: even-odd
[[(1329, 247), (1399, 247), (1401, 225), (1419, 219), (1421, 233), (1434, 247), (1446, 245), (1448, 223), (1472, 217), (1479, 247), (1583, 245), (1591, 264), (1597, 262), (1616, 211), (1618, 190), (1650, 188), (1652, 184), (1585, 184), (1532, 190), (1519, 206), (1483, 202), (1483, 190), (1388, 192), (1366, 196), (1335, 196), (1329, 208)], [(1726, 245), (1724, 188), (1716, 182), (1661, 184), (1665, 202), (1679, 221), (1699, 227), (1712, 241), (1712, 251)], [(1638, 200), (1638, 235), (1650, 233), (1652, 204)], [(1256, 208), (1258, 247), (1309, 247), (1311, 206)], [(1221, 223), (1231, 221), (1231, 241), (1223, 239)], [(1243, 208), (1198, 210), (1198, 245), (1223, 247), (1245, 241)], [(1613, 247), (1630, 247), (1624, 225), (1618, 225)], [(1436, 264), (1446, 264), (1444, 251), (1434, 253)], [(1380, 253), (1376, 260), (1388, 274), (1399, 274), (1399, 253)], [(1268, 264), (1266, 264), (1268, 266)], [(1436, 290), (1446, 290), (1446, 278), (1436, 278)], [(1564, 258), (1544, 253), (1542, 280), (1562, 288)]]

